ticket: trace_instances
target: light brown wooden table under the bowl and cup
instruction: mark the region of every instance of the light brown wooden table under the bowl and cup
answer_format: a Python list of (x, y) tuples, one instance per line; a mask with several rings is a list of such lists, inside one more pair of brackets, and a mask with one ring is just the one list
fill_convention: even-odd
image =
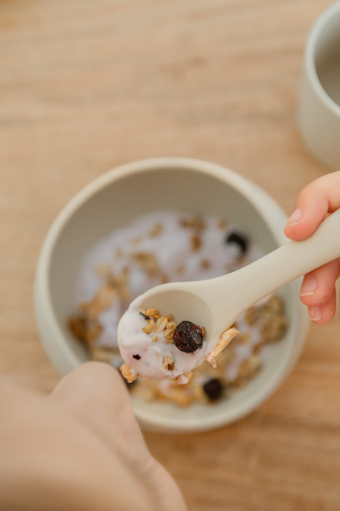
[[(329, 0), (2, 0), (0, 372), (58, 381), (32, 284), (51, 221), (123, 162), (182, 155), (252, 178), (290, 212), (327, 172), (303, 146), (303, 47)], [(190, 511), (340, 509), (339, 320), (312, 325), (284, 385), (202, 434), (146, 434)], [(164, 449), (166, 442), (166, 449)]]

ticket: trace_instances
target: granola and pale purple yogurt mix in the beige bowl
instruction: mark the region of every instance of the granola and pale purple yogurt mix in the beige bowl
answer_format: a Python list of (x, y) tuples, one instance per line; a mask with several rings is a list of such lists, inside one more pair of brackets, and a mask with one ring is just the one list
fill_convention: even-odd
[[(90, 358), (119, 366), (117, 323), (136, 296), (165, 282), (220, 276), (261, 255), (252, 241), (225, 219), (172, 211), (145, 215), (116, 230), (85, 255), (78, 277), (78, 311), (69, 318), (69, 328), (88, 346)], [(159, 372), (151, 379), (137, 378), (138, 366), (150, 361), (132, 350), (122, 374), (131, 383), (131, 392), (144, 399), (184, 406), (214, 402), (245, 385), (265, 364), (269, 344), (286, 329), (282, 300), (277, 295), (262, 300), (237, 320), (232, 334), (226, 331), (222, 335), (217, 351), (205, 354), (204, 364), (179, 378), (176, 318), (168, 311), (161, 311), (163, 315), (157, 310), (138, 312), (141, 334), (160, 347)], [(157, 379), (164, 374), (169, 376), (167, 380)]]

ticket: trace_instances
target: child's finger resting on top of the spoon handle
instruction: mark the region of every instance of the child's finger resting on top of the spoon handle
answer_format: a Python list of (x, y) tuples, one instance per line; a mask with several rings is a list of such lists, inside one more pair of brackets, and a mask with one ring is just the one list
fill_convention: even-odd
[(305, 240), (313, 234), (327, 213), (339, 207), (340, 171), (322, 176), (301, 190), (284, 233), (292, 240)]

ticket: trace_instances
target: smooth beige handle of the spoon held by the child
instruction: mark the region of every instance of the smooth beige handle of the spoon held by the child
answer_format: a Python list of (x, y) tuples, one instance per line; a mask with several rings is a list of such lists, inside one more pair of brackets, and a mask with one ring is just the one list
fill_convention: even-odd
[(216, 279), (205, 294), (209, 292), (208, 300), (214, 301), (215, 312), (220, 308), (220, 314), (223, 310), (225, 314), (228, 303), (232, 309), (229, 312), (237, 317), (264, 296), (338, 257), (340, 210), (326, 218), (307, 240), (287, 242), (254, 263), (224, 275), (220, 285)]

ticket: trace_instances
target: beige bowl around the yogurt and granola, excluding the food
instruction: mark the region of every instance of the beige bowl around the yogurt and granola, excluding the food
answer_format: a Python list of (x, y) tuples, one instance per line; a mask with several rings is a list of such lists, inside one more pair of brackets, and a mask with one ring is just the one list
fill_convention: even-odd
[[(37, 266), (36, 320), (47, 355), (61, 375), (88, 359), (66, 326), (76, 307), (77, 270), (84, 252), (112, 229), (161, 208), (225, 217), (265, 252), (286, 241), (286, 216), (278, 204), (253, 182), (206, 161), (147, 159), (96, 179), (58, 215)], [(210, 430), (240, 419), (269, 398), (297, 362), (306, 337), (309, 320), (299, 300), (299, 286), (296, 281), (282, 288), (289, 328), (284, 339), (270, 347), (266, 364), (247, 386), (217, 404), (188, 408), (133, 397), (141, 426), (166, 432)]]

